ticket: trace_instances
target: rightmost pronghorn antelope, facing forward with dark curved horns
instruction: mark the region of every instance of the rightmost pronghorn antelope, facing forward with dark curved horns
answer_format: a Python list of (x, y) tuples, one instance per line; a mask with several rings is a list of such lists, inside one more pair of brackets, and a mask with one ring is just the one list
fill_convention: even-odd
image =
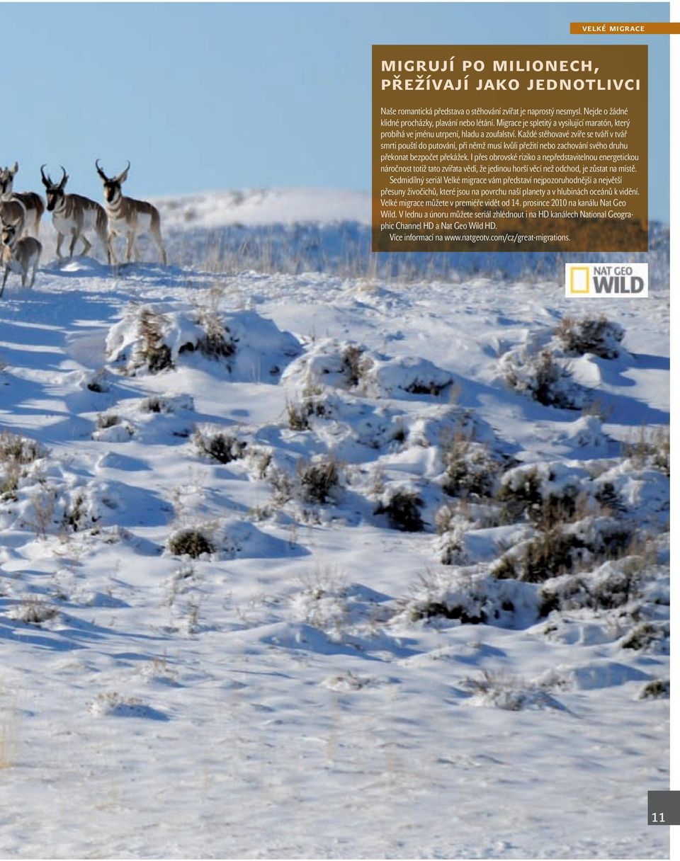
[(133, 251), (139, 259), (139, 253), (135, 248), (135, 242), (140, 233), (149, 233), (163, 258), (167, 263), (167, 255), (160, 235), (160, 215), (157, 208), (147, 201), (135, 201), (132, 197), (123, 195), (121, 186), (128, 178), (128, 167), (119, 173), (117, 177), (107, 177), (101, 167), (99, 159), (95, 162), (97, 173), (104, 187), (104, 199), (106, 201), (106, 212), (109, 215), (109, 253), (114, 263), (115, 250), (114, 240), (118, 235), (128, 237), (128, 263), (132, 258)]

